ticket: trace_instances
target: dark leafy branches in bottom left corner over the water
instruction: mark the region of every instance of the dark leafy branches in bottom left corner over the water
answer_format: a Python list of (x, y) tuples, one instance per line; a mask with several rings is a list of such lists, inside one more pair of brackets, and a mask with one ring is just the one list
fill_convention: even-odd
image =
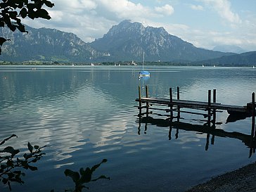
[[(18, 137), (15, 134), (9, 136), (8, 138), (1, 141), (0, 146), (2, 146), (6, 141), (13, 137)], [(21, 169), (30, 169), (31, 171), (36, 171), (37, 167), (31, 164), (40, 160), (45, 153), (41, 152), (41, 148), (45, 146), (32, 146), (30, 142), (27, 143), (27, 149), (29, 153), (24, 153), (22, 157), (16, 158), (20, 151), (14, 149), (12, 146), (7, 146), (4, 149), (0, 149), (0, 181), (4, 185), (8, 184), (11, 191), (11, 182), (17, 182), (19, 184), (24, 184), (22, 177), (25, 173)]]

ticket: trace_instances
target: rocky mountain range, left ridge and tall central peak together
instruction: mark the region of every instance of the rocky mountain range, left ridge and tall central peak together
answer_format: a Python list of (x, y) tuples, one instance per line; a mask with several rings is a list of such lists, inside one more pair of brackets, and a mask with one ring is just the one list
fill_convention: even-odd
[(2, 46), (0, 60), (66, 63), (141, 61), (144, 52), (146, 61), (191, 63), (235, 54), (200, 49), (169, 34), (163, 27), (144, 27), (129, 20), (111, 27), (102, 38), (91, 43), (85, 43), (75, 34), (55, 29), (26, 26), (26, 30), (28, 34), (0, 27), (0, 37), (11, 39)]

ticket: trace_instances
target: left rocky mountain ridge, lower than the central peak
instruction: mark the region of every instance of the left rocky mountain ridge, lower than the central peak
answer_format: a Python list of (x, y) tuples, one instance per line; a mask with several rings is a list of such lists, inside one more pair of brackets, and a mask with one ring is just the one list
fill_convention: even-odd
[(0, 37), (11, 39), (2, 46), (0, 60), (82, 62), (102, 55), (72, 33), (29, 26), (26, 30), (28, 34), (0, 27)]

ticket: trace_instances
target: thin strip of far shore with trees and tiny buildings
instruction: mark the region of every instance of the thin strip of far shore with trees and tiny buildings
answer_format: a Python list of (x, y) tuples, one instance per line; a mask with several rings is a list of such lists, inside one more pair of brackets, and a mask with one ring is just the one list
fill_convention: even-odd
[[(27, 61), (27, 62), (8, 62), (8, 61), (0, 61), (0, 65), (91, 65), (92, 63), (59, 63), (59, 62), (40, 62), (40, 61)], [(132, 64), (132, 61), (120, 61), (120, 62), (102, 62), (102, 63), (93, 63), (94, 65), (98, 66), (138, 66), (140, 67), (142, 63), (136, 63), (136, 65)], [(211, 65), (207, 63), (173, 63), (173, 62), (146, 62), (144, 65), (148, 66), (202, 66), (205, 67), (252, 67), (252, 65), (248, 64), (240, 64), (240, 65), (230, 65), (230, 64), (216, 64)]]

